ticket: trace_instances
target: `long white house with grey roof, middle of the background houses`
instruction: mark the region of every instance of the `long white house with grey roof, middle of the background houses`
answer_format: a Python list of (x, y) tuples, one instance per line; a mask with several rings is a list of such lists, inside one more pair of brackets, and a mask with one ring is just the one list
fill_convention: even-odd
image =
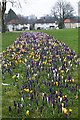
[(53, 18), (52, 19), (38, 19), (35, 22), (35, 30), (38, 29), (59, 29), (58, 23)]

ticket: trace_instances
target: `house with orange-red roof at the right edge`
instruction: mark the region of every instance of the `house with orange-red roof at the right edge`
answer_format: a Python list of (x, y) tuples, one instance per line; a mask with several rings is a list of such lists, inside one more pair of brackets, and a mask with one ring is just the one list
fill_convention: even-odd
[(65, 26), (65, 28), (78, 28), (78, 27), (80, 27), (80, 17), (65, 19), (64, 26)]

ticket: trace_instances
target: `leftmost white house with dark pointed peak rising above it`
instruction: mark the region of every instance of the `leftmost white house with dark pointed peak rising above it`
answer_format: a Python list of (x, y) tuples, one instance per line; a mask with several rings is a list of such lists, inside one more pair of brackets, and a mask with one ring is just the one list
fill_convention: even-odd
[(29, 30), (30, 25), (27, 24), (27, 21), (24, 23), (18, 18), (16, 13), (13, 10), (9, 10), (8, 14), (5, 15), (5, 23), (7, 25), (8, 31), (15, 31), (15, 30)]

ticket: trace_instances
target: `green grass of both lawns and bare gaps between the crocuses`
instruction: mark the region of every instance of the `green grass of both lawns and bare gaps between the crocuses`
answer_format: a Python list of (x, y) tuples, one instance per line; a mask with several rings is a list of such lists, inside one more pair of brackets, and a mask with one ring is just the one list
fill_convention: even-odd
[[(62, 41), (62, 42), (65, 42), (70, 48), (72, 48), (74, 51), (76, 51), (76, 53), (78, 52), (78, 30), (77, 29), (64, 29), (64, 30), (40, 30), (40, 32), (46, 32), (47, 34), (51, 35), (51, 36), (54, 36), (54, 38)], [(9, 45), (11, 45), (16, 39), (17, 37), (19, 37), (21, 34), (21, 32), (10, 32), (10, 33), (5, 33), (2, 35), (2, 50), (5, 50), (6, 47), (8, 47)], [(13, 74), (15, 74), (17, 72), (20, 73), (20, 75), (24, 75), (24, 72), (25, 72), (25, 68), (24, 66), (22, 65), (17, 65), (16, 69), (13, 70)], [(42, 73), (42, 76), (44, 73)], [(73, 72), (73, 76), (74, 78), (76, 79), (76, 82), (77, 82), (77, 73), (76, 71)], [(12, 78), (9, 74), (6, 73), (6, 75), (4, 75), (4, 77), (6, 78), (5, 80), (3, 79), (3, 82), (4, 83), (10, 83), (12, 84)], [(40, 78), (41, 80), (43, 79), (42, 77)], [(24, 77), (24, 81), (26, 81), (26, 78)], [(14, 81), (13, 81), (14, 83)], [(18, 81), (18, 87), (20, 88), (21, 86), (21, 80)], [(42, 86), (42, 89), (44, 88), (45, 91), (46, 88), (44, 86)], [(56, 87), (55, 87), (56, 89)], [(9, 113), (8, 112), (8, 106), (12, 106), (13, 105), (13, 101), (16, 100), (18, 101), (19, 98), (20, 98), (20, 92), (19, 89), (14, 86), (14, 85), (11, 85), (11, 86), (3, 86), (2, 87), (2, 92), (3, 92), (3, 95), (2, 95), (2, 100), (3, 100), (3, 108), (2, 108), (2, 113), (3, 113), (3, 118), (7, 118), (7, 117), (13, 117), (12, 114), (14, 115), (14, 117), (20, 117), (21, 114), (23, 114), (23, 112), (21, 114), (17, 114), (17, 111), (16, 111), (16, 114), (14, 113), (14, 108), (12, 113)], [(68, 94), (69, 95), (69, 98), (71, 99), (74, 99), (74, 94), (70, 95), (66, 89), (66, 91), (64, 91), (63, 89), (63, 92), (64, 94)], [(20, 101), (20, 100), (19, 100)], [(26, 100), (26, 102), (28, 102), (28, 100)], [(26, 103), (27, 104), (27, 103)], [(69, 102), (70, 106), (71, 106), (71, 103)], [(74, 116), (74, 118), (77, 118), (78, 117), (78, 112), (75, 112), (78, 111), (78, 104), (77, 104), (77, 101), (74, 99), (74, 108), (73, 108), (73, 114), (71, 115), (71, 118)], [(33, 107), (35, 107), (35, 105), (33, 105)], [(46, 106), (45, 109), (47, 109), (48, 107), (48, 110), (50, 109), (49, 106)], [(43, 110), (44, 113), (45, 113), (45, 109)], [(50, 109), (51, 111), (51, 109)], [(24, 111), (25, 113), (25, 111)], [(22, 116), (22, 115), (21, 115)], [(23, 114), (23, 116), (25, 116)], [(48, 112), (47, 111), (47, 114), (44, 114), (43, 116), (45, 117), (51, 117), (52, 116), (52, 111), (51, 112)], [(57, 116), (57, 113), (54, 114), (54, 116), (56, 117)], [(62, 114), (61, 114), (62, 116)], [(31, 117), (40, 117), (40, 113), (38, 111), (34, 111), (34, 114), (31, 116)]]

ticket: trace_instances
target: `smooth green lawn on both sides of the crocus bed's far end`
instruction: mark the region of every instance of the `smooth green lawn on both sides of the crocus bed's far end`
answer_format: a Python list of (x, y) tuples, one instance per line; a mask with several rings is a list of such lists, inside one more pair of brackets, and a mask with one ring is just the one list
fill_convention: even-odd
[[(78, 52), (78, 29), (60, 29), (60, 30), (39, 30), (49, 35), (54, 36), (55, 39), (63, 41), (72, 48), (76, 53)], [(2, 50), (13, 43), (19, 37), (21, 32), (10, 32), (2, 35)]]

